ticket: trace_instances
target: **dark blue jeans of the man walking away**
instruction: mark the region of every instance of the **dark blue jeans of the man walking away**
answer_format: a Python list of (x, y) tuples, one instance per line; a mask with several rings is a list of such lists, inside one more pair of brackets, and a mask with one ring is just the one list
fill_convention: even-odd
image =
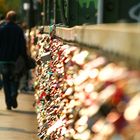
[(14, 65), (12, 63), (0, 64), (3, 77), (3, 89), (7, 108), (13, 107), (18, 95), (19, 80), (14, 75)]

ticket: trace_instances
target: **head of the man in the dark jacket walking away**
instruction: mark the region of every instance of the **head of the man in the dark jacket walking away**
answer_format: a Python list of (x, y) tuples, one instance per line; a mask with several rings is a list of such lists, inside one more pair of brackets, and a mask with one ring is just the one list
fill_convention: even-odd
[(10, 22), (15, 22), (17, 18), (17, 14), (15, 11), (11, 10), (6, 14), (6, 20)]

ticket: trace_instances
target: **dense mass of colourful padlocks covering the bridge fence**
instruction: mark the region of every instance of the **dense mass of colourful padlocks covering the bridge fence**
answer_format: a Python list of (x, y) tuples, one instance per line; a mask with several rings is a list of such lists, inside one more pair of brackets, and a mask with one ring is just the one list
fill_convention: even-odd
[(137, 140), (138, 70), (45, 33), (39, 35), (36, 46), (34, 87), (40, 139)]

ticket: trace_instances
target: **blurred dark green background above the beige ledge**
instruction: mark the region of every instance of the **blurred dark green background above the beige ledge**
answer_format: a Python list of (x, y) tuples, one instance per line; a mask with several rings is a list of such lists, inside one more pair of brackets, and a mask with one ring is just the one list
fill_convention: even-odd
[(28, 26), (63, 24), (74, 26), (97, 23), (137, 23), (139, 0), (0, 0), (0, 14), (18, 12)]

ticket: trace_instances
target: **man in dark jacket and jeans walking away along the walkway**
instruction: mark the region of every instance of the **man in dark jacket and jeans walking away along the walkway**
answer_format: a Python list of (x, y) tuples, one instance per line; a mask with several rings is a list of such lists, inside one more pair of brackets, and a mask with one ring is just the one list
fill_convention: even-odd
[(16, 78), (15, 63), (19, 56), (27, 58), (23, 30), (16, 24), (17, 14), (9, 11), (6, 23), (0, 27), (0, 72), (3, 77), (5, 102), (8, 110), (17, 108), (19, 78)]

